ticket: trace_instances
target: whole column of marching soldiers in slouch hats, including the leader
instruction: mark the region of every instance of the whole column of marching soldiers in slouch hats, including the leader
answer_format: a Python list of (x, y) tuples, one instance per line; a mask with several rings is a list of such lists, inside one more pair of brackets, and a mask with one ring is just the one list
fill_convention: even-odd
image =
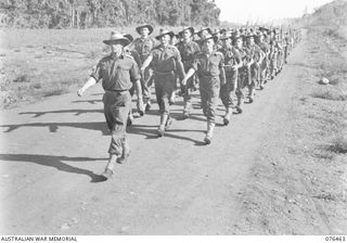
[[(160, 29), (153, 38), (149, 24), (136, 28), (140, 37), (113, 31), (103, 42), (112, 53), (103, 57), (78, 95), (102, 80), (104, 114), (112, 140), (110, 161), (101, 175), (108, 179), (116, 163), (123, 164), (130, 154), (126, 128), (132, 124), (131, 98), (137, 93), (140, 116), (152, 107), (151, 87), (155, 86), (160, 122), (158, 137), (170, 128), (170, 105), (177, 97), (183, 98), (183, 118), (193, 110), (192, 92), (200, 89), (201, 106), (207, 118), (204, 142), (209, 144), (216, 124), (219, 99), (226, 107), (223, 125), (233, 114), (243, 112), (247, 98), (253, 103), (256, 89), (278, 75), (295, 44), (299, 41), (297, 29), (258, 27), (240, 29), (183, 27), (181, 31)], [(237, 98), (234, 104), (233, 97)]]

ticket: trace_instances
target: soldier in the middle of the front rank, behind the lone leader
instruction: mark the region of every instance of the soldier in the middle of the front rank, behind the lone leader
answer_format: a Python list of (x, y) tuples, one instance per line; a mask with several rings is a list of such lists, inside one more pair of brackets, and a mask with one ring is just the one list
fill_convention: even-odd
[(144, 71), (150, 64), (153, 66), (155, 94), (160, 113), (159, 137), (164, 136), (165, 130), (172, 123), (169, 106), (175, 90), (176, 72), (179, 73), (180, 79), (183, 79), (185, 74), (180, 52), (175, 46), (170, 44), (174, 35), (172, 31), (163, 30), (156, 37), (157, 40), (160, 40), (160, 44), (152, 50), (141, 67), (141, 71)]

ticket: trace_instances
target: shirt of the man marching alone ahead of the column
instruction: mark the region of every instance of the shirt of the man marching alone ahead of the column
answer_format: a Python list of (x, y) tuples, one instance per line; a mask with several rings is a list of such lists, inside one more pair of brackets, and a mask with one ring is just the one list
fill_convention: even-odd
[(132, 81), (140, 79), (139, 67), (136, 61), (127, 54), (118, 59), (111, 54), (102, 59), (91, 74), (97, 81), (102, 79), (102, 87), (108, 91), (129, 90)]

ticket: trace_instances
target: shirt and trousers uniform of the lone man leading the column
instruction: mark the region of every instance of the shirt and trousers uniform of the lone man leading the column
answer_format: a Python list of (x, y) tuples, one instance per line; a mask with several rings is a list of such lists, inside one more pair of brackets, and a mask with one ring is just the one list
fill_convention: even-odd
[(140, 79), (139, 67), (127, 54), (116, 57), (111, 54), (102, 59), (91, 75), (97, 81), (102, 80), (104, 115), (112, 132), (108, 153), (120, 155), (128, 148), (126, 139), (127, 119), (131, 105), (129, 90), (132, 82)]

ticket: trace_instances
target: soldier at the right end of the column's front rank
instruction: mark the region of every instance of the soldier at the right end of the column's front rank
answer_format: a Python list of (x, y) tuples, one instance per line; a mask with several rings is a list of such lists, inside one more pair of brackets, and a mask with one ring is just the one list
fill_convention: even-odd
[(216, 51), (216, 41), (215, 36), (205, 37), (203, 51), (195, 56), (192, 67), (182, 80), (182, 85), (185, 85), (195, 72), (198, 76), (203, 113), (207, 117), (207, 132), (204, 139), (206, 144), (211, 142), (214, 136), (220, 86), (226, 84), (223, 54)]

